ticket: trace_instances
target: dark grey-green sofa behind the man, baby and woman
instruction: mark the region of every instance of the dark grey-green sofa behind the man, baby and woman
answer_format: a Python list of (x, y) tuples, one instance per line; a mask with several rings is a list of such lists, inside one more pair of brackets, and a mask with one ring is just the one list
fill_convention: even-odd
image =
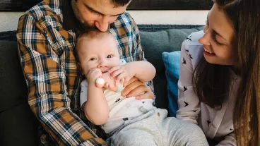
[[(168, 108), (167, 78), (162, 52), (178, 51), (200, 25), (138, 25), (145, 56), (156, 68), (155, 106)], [(20, 68), (16, 31), (0, 32), (0, 145), (38, 145), (39, 122), (30, 111), (27, 87)]]

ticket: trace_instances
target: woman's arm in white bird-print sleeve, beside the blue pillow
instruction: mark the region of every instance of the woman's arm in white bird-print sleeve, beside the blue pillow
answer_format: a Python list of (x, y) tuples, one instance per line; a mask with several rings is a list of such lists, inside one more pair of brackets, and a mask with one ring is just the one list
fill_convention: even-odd
[(184, 121), (196, 123), (200, 112), (199, 98), (194, 92), (192, 85), (192, 74), (194, 72), (191, 57), (189, 56), (189, 45), (184, 41), (181, 49), (181, 61), (178, 81), (178, 105), (176, 117)]

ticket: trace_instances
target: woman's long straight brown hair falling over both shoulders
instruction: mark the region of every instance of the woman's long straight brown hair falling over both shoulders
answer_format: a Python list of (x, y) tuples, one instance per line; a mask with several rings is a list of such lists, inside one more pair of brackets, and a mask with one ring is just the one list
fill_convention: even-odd
[[(260, 1), (215, 0), (235, 30), (235, 68), (241, 78), (233, 123), (237, 145), (260, 145)], [(220, 109), (230, 91), (230, 68), (206, 62), (194, 71), (194, 87), (201, 102)]]

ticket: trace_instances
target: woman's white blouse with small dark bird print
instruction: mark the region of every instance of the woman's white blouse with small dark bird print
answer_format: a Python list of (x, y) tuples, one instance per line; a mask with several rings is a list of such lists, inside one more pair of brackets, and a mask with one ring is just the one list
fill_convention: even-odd
[(203, 31), (191, 33), (182, 44), (177, 118), (196, 123), (207, 138), (220, 141), (218, 145), (237, 145), (232, 115), (240, 78), (230, 70), (232, 84), (229, 97), (220, 110), (200, 102), (193, 89), (192, 74), (203, 56), (203, 45), (198, 42), (202, 36)]

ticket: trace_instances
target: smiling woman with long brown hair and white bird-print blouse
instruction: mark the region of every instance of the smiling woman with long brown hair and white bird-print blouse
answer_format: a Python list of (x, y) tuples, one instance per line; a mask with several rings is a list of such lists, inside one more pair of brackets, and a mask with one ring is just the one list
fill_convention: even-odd
[(260, 145), (259, 17), (259, 0), (215, 0), (182, 44), (177, 118), (218, 145)]

